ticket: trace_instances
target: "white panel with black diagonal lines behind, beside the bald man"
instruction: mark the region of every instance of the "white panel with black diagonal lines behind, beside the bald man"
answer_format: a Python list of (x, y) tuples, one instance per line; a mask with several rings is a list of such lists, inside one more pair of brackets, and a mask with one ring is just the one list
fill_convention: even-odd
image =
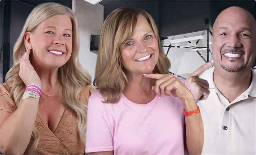
[[(206, 30), (205, 30), (206, 31)], [(203, 34), (204, 31), (199, 32), (192, 32), (192, 33), (186, 33), (184, 34), (186, 38), (188, 37), (195, 37), (200, 36)], [(207, 47), (207, 32), (203, 34), (204, 39), (200, 39), (197, 46), (198, 47)], [(162, 40), (162, 46), (168, 46), (170, 45), (170, 40), (173, 39), (182, 39), (184, 38), (183, 35), (175, 35), (175, 36), (168, 36), (167, 39)], [(195, 46), (197, 40), (191, 40), (190, 43), (186, 42), (180, 42), (180, 43), (174, 43), (172, 46)], [(210, 42), (212, 42), (212, 37), (210, 36)], [(162, 47), (163, 52), (166, 54), (168, 47)], [(193, 73), (198, 67), (205, 64), (205, 61), (200, 57), (200, 55), (196, 51), (190, 51), (192, 48), (170, 48), (167, 57), (171, 62), (171, 68), (169, 69), (170, 72), (174, 74), (178, 74), (184, 78), (186, 78), (188, 75)], [(210, 45), (211, 50), (211, 45)], [(199, 50), (198, 51), (205, 60), (207, 60), (207, 50)], [(210, 54), (210, 60), (212, 60), (211, 54)]]

